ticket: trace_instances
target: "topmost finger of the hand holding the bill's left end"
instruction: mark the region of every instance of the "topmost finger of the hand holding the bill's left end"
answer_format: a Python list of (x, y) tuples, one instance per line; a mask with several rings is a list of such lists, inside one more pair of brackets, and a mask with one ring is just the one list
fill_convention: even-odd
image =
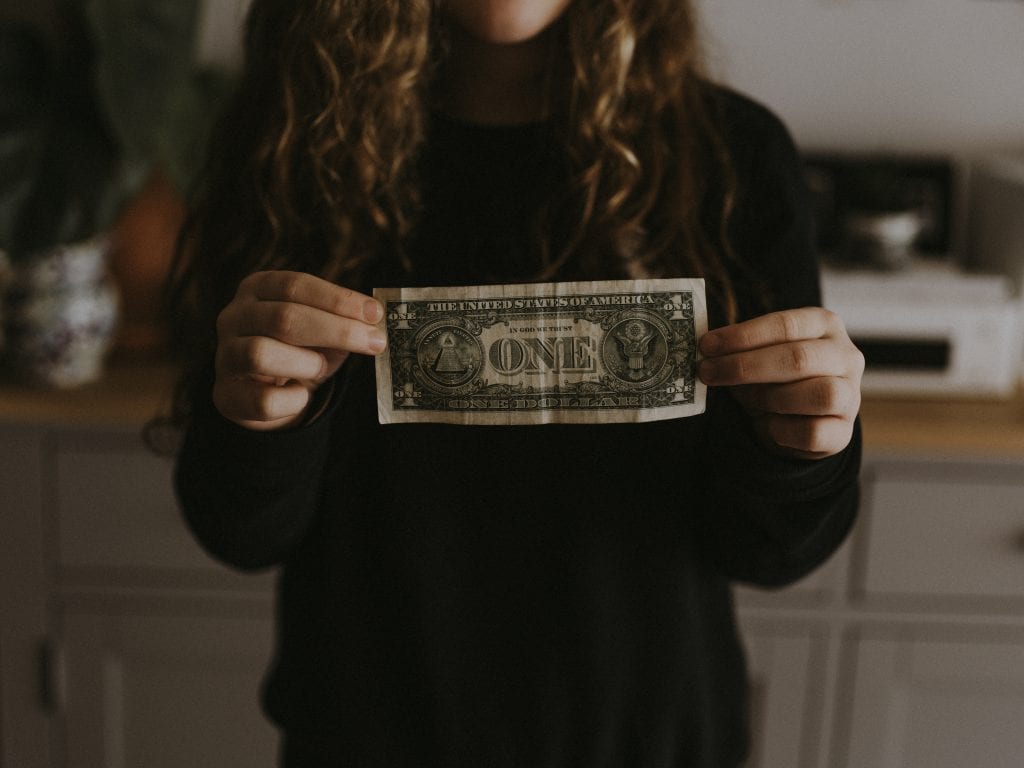
[(239, 294), (257, 301), (303, 304), (370, 325), (384, 316), (384, 308), (376, 299), (305, 272), (255, 272), (242, 282)]

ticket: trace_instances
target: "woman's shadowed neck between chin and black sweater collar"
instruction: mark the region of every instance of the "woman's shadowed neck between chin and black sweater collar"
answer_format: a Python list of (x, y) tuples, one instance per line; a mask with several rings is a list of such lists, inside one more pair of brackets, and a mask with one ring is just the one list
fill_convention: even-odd
[(439, 106), (471, 123), (514, 125), (547, 117), (552, 30), (522, 43), (481, 41), (452, 26)]

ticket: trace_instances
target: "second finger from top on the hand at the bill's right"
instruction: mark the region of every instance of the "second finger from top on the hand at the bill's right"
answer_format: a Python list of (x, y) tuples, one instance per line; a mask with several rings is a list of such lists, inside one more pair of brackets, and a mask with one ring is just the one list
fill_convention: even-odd
[(700, 362), (700, 378), (713, 386), (781, 384), (819, 377), (843, 377), (852, 366), (847, 347), (831, 340), (774, 344)]

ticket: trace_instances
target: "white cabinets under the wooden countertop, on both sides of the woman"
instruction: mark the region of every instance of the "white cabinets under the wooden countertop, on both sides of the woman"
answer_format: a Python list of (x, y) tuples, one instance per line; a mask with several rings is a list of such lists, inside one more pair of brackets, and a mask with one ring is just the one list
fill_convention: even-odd
[[(737, 591), (750, 768), (1024, 765), (1024, 458), (863, 488), (822, 568)], [(0, 424), (0, 768), (273, 765), (272, 574), (203, 554), (136, 427)]]

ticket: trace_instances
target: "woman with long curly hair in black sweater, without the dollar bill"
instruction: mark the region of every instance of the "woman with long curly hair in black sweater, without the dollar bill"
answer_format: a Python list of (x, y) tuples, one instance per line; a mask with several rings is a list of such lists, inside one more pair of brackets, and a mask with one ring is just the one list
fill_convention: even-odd
[[(255, 0), (176, 295), (177, 488), (282, 564), (295, 766), (736, 766), (730, 584), (856, 513), (862, 359), (816, 308), (800, 164), (681, 0)], [(382, 427), (375, 286), (703, 276), (708, 412)]]

